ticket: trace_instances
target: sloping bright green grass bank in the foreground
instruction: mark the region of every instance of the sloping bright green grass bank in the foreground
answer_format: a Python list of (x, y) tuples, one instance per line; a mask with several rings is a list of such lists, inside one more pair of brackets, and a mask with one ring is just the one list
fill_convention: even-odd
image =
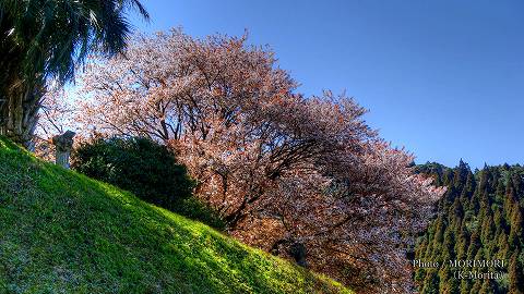
[(0, 138), (0, 293), (352, 293)]

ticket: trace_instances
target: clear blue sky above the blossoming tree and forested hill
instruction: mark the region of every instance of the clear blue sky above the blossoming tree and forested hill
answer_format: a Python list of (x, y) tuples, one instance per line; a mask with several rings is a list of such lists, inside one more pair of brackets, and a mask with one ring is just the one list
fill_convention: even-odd
[(347, 94), (417, 162), (524, 163), (524, 1), (143, 0), (142, 32), (270, 45), (300, 91)]

